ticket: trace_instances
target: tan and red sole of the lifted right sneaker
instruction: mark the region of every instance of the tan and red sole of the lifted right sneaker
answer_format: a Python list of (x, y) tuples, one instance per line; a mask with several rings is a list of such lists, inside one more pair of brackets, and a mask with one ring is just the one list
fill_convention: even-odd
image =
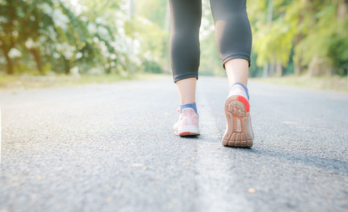
[(233, 95), (225, 101), (227, 129), (223, 134), (222, 145), (230, 147), (250, 148), (253, 146), (252, 129), (249, 129), (248, 100)]

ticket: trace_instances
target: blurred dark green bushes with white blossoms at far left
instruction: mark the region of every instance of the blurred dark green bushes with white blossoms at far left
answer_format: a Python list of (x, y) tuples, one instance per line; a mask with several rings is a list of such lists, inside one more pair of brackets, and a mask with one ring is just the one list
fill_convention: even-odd
[[(79, 3), (83, 5), (63, 0), (1, 0), (0, 49), (8, 74), (33, 68), (45, 74), (47, 67), (66, 74), (72, 67), (79, 72), (128, 72), (134, 63), (133, 41), (122, 31), (126, 22), (122, 3)], [(11, 51), (19, 52), (17, 58)], [(36, 67), (28, 66), (31, 60)]]

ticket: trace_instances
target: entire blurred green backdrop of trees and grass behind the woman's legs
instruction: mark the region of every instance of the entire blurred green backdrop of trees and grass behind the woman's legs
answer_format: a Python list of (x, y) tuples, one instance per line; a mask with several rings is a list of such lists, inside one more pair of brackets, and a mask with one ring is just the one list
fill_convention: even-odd
[[(251, 77), (322, 77), (347, 90), (348, 1), (247, 4)], [(171, 74), (169, 34), (166, 0), (0, 0), (0, 85), (22, 76)], [(200, 49), (200, 74), (223, 76), (208, 0)]]

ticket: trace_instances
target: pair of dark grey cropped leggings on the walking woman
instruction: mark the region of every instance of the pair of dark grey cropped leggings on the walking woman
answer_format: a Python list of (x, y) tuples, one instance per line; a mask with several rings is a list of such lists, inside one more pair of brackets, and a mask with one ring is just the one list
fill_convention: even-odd
[[(196, 77), (200, 59), (199, 28), (201, 0), (169, 0), (171, 8), (170, 55), (174, 82)], [(223, 67), (233, 58), (250, 66), (251, 27), (246, 0), (210, 0), (215, 38)]]

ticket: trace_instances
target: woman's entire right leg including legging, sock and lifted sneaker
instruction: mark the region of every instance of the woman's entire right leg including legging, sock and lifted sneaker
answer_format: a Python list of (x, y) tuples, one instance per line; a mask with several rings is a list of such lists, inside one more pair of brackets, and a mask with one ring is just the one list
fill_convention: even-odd
[(230, 92), (225, 101), (227, 126), (222, 144), (251, 147), (253, 130), (246, 88), (251, 26), (246, 14), (246, 0), (210, 0), (210, 5), (215, 22), (216, 45), (230, 83)]

